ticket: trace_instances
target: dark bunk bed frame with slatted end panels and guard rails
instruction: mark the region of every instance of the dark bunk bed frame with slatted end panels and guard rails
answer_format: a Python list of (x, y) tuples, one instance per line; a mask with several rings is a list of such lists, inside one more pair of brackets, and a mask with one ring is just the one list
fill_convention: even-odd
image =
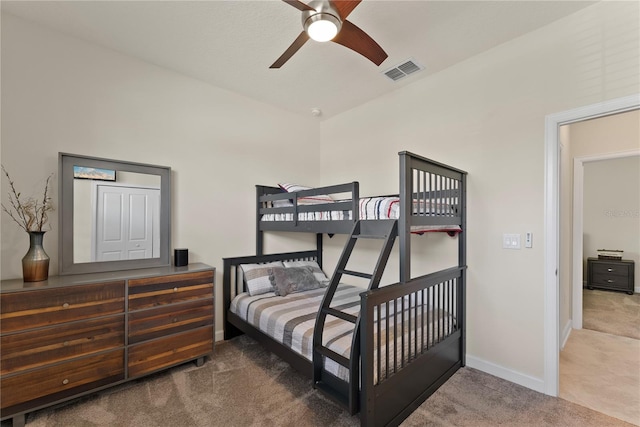
[[(438, 387), (465, 365), (466, 328), (466, 172), (403, 151), (400, 156), (400, 280), (398, 283), (361, 294), (360, 309), (360, 375), (359, 411), (361, 424), (398, 425), (424, 402)], [(265, 335), (256, 327), (229, 311), (231, 300), (245, 291), (239, 266), (276, 260), (317, 260), (322, 266), (322, 233), (349, 233), (358, 218), (359, 188), (357, 182), (321, 187), (298, 193), (283, 193), (266, 186), (257, 188), (257, 224), (255, 256), (225, 258), (223, 304), (225, 339), (245, 333), (262, 343), (308, 378), (313, 364), (303, 356)], [(348, 193), (346, 201), (303, 205), (301, 197)], [(294, 198), (295, 197), (295, 198)], [(272, 207), (275, 200), (292, 199), (293, 206)], [(438, 207), (433, 208), (435, 201)], [(445, 201), (445, 203), (442, 203)], [(424, 208), (431, 204), (430, 209)], [(444, 206), (441, 208), (440, 206)], [(299, 212), (350, 210), (350, 220), (300, 221)], [(262, 214), (291, 213), (291, 221), (260, 221)], [(420, 277), (411, 277), (411, 226), (459, 225), (458, 265)], [(262, 253), (265, 231), (297, 231), (317, 233), (315, 250), (282, 254)], [(429, 301), (418, 306), (415, 301)], [(413, 302), (411, 302), (413, 301)], [(405, 305), (406, 304), (406, 305)], [(401, 330), (394, 329), (390, 341), (379, 336), (383, 310), (390, 307), (402, 314)], [(424, 311), (426, 307), (427, 311)], [(418, 310), (422, 310), (419, 312)], [(405, 319), (405, 312), (408, 313)], [(454, 317), (452, 324), (441, 324), (437, 313)], [(412, 315), (412, 313), (414, 313)], [(412, 317), (413, 316), (413, 317)], [(426, 318), (426, 323), (425, 323)], [(420, 320), (419, 320), (420, 319)], [(396, 320), (394, 320), (395, 322)], [(422, 322), (421, 324), (419, 322)], [(406, 323), (406, 326), (405, 326)], [(397, 325), (393, 325), (397, 328)], [(389, 354), (393, 348), (395, 356)], [(391, 370), (390, 369), (391, 365)], [(336, 379), (339, 387), (339, 380)]]

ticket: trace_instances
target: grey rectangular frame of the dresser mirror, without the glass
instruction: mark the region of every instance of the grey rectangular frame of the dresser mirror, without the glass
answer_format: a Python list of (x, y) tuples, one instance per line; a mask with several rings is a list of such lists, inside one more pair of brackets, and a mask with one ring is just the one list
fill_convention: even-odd
[[(160, 257), (76, 263), (73, 258), (73, 166), (89, 166), (160, 176)], [(60, 275), (100, 273), (171, 264), (171, 168), (99, 157), (58, 153), (58, 268)]]

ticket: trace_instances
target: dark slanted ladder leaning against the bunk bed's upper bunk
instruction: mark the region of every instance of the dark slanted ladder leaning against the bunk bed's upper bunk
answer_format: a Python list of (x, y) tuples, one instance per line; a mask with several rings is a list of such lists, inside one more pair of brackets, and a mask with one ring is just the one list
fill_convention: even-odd
[[(342, 255), (336, 266), (336, 271), (324, 294), (322, 305), (316, 317), (313, 332), (313, 384), (314, 387), (328, 394), (333, 399), (343, 404), (351, 414), (358, 412), (359, 388), (360, 388), (360, 316), (331, 307), (333, 297), (340, 285), (343, 275), (359, 277), (369, 280), (368, 290), (376, 289), (380, 284), (382, 273), (387, 265), (393, 243), (398, 235), (397, 220), (359, 220), (354, 224), (351, 235), (342, 251)], [(360, 239), (384, 240), (378, 260), (372, 273), (362, 273), (347, 270), (347, 263)], [(363, 288), (363, 292), (365, 289)], [(351, 340), (350, 357), (345, 357), (326, 347), (322, 343), (325, 322), (327, 316), (354, 324)], [(325, 370), (325, 358), (331, 359), (349, 370), (349, 381), (344, 381)]]

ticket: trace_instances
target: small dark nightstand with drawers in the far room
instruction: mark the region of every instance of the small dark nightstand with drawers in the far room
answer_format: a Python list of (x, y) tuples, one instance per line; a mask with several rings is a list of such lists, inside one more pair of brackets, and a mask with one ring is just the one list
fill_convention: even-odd
[(587, 289), (624, 291), (633, 295), (634, 262), (587, 258)]

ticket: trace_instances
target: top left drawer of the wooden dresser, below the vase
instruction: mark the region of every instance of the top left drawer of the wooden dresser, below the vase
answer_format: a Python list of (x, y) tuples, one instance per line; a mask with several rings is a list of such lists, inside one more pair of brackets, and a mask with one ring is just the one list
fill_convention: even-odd
[(0, 296), (2, 333), (124, 312), (124, 281)]

